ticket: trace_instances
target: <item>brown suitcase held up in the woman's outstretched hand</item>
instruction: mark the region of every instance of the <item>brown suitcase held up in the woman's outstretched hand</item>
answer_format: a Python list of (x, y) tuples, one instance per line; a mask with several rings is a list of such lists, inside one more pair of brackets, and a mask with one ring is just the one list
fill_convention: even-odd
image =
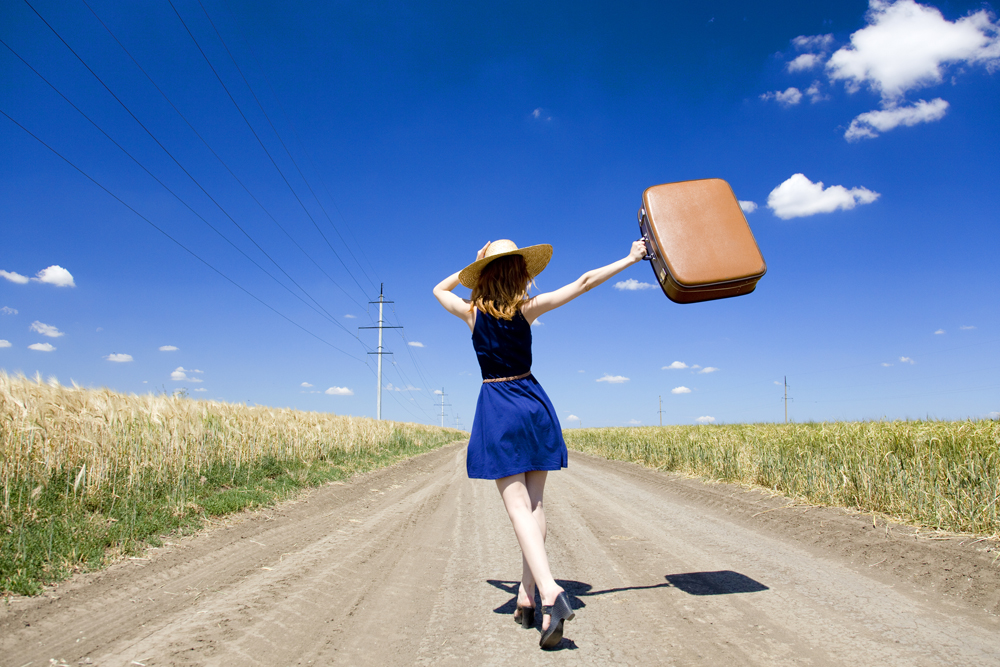
[(749, 294), (767, 271), (736, 195), (721, 178), (647, 188), (639, 229), (645, 259), (675, 303)]

